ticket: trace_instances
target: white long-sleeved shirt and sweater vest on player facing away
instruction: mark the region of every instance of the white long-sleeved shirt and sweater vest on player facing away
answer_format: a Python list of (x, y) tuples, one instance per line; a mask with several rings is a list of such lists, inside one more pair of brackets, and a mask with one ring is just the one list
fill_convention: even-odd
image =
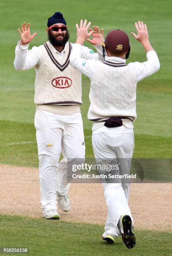
[[(85, 60), (81, 57), (80, 44), (74, 44), (70, 56), (71, 65), (91, 80), (90, 108), (88, 118), (94, 120), (92, 130), (104, 122), (99, 120), (119, 116), (123, 125), (133, 128), (130, 119), (137, 118), (136, 87), (137, 82), (159, 70), (159, 59), (155, 51), (147, 52), (147, 61), (130, 62), (118, 57), (105, 57), (105, 62)], [(97, 121), (96, 121), (97, 120)]]

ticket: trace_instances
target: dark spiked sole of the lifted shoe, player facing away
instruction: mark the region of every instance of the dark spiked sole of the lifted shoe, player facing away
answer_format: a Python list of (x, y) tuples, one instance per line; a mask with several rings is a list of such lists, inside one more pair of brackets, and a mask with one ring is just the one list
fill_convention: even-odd
[(123, 228), (122, 241), (127, 248), (131, 249), (136, 244), (136, 238), (132, 232), (132, 220), (129, 215), (123, 215), (119, 221), (120, 226)]

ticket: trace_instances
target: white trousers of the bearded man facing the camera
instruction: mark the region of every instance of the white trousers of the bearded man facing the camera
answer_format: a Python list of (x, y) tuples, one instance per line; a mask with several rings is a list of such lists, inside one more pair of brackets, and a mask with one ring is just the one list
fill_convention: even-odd
[[(84, 158), (85, 143), (81, 113), (57, 115), (44, 110), (35, 113), (38, 144), (40, 202), (43, 212), (57, 209), (56, 191), (66, 195), (67, 159)], [(58, 164), (61, 153), (63, 159)]]

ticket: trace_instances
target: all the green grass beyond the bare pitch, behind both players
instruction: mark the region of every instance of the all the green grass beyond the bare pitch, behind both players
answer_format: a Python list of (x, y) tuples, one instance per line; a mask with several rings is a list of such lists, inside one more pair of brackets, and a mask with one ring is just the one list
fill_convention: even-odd
[[(9, 8), (10, 6), (10, 8)], [(47, 40), (47, 18), (55, 11), (61, 11), (66, 18), (71, 41), (76, 39), (75, 23), (81, 18), (92, 21), (92, 25), (103, 27), (106, 33), (112, 28), (121, 28), (129, 34), (132, 52), (127, 61), (145, 61), (144, 50), (131, 35), (135, 31), (134, 22), (144, 20), (149, 29), (150, 41), (157, 51), (161, 68), (158, 73), (139, 82), (137, 87), (137, 120), (134, 122), (135, 149), (134, 157), (169, 158), (172, 156), (171, 126), (171, 44), (172, 26), (170, 10), (172, 2), (149, 0), (131, 0), (119, 2), (103, 0), (86, 3), (69, 1), (33, 1), (2, 0), (0, 2), (0, 163), (38, 166), (36, 143), (5, 146), (7, 143), (35, 141), (33, 126), (35, 105), (34, 69), (18, 72), (13, 67), (15, 46), (19, 40), (17, 28), (23, 21), (30, 22), (31, 33), (37, 36), (30, 44), (38, 46)], [(6, 20), (5, 13), (9, 18)], [(17, 15), (13, 15), (17, 13)], [(109, 15), (111, 14), (111, 15)], [(86, 45), (92, 47), (86, 42)], [(87, 120), (89, 108), (89, 80), (83, 76), (83, 116), (85, 136), (91, 135), (91, 122)], [(93, 157), (91, 139), (86, 139), (86, 156)]]

